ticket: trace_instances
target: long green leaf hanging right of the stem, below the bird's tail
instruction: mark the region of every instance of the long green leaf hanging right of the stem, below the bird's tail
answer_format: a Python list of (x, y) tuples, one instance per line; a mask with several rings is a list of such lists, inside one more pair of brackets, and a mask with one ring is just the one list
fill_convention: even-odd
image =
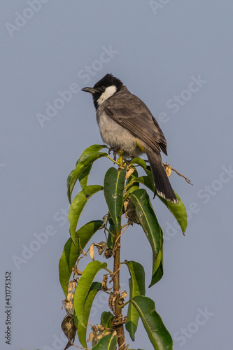
[[(141, 227), (146, 234), (146, 237), (150, 243), (153, 251), (153, 276), (155, 274), (155, 262), (160, 254), (162, 248), (162, 229), (157, 221), (155, 211), (150, 203), (150, 197), (144, 189), (135, 190), (134, 193), (130, 195), (132, 200), (136, 215), (139, 218)], [(157, 266), (158, 268), (159, 266)]]

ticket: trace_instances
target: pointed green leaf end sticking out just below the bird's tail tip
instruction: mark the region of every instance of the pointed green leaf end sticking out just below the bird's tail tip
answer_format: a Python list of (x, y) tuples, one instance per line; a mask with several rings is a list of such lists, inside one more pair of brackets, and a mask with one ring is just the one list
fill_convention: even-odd
[(181, 226), (181, 230), (183, 234), (185, 233), (185, 230), (187, 228), (187, 211), (185, 209), (185, 205), (183, 204), (181, 198), (177, 195), (176, 197), (178, 199), (178, 204), (172, 204), (171, 202), (168, 202), (167, 200), (164, 200), (164, 198), (158, 196), (160, 200), (166, 205), (166, 207), (171, 211), (171, 214), (173, 214), (178, 222), (178, 224)]

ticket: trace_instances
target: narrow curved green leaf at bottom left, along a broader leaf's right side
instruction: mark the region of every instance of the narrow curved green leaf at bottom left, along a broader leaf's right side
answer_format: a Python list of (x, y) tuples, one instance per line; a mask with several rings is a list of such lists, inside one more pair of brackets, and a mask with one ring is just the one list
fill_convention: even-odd
[(90, 311), (92, 308), (92, 303), (94, 301), (94, 297), (97, 295), (99, 290), (101, 290), (101, 283), (100, 282), (93, 282), (90, 286), (90, 290), (87, 294), (87, 298), (85, 300), (85, 304), (83, 305), (83, 323), (78, 324), (78, 339), (80, 343), (83, 345), (83, 347), (87, 347), (87, 323), (90, 315)]

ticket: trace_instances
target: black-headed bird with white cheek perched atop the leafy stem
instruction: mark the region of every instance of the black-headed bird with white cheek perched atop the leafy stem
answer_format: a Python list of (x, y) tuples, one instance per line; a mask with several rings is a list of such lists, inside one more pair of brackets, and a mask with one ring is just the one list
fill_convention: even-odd
[(82, 90), (92, 94), (97, 124), (104, 143), (113, 151), (123, 151), (126, 158), (146, 153), (155, 194), (177, 204), (178, 200), (161, 157), (161, 151), (167, 155), (167, 141), (148, 106), (111, 73), (106, 74), (93, 87), (83, 87)]

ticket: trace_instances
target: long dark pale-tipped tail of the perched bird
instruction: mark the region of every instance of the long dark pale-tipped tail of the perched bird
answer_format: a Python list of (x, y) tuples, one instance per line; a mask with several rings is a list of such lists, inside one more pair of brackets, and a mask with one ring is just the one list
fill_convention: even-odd
[(153, 175), (154, 185), (157, 194), (168, 200), (171, 203), (178, 203), (174, 190), (167, 177), (160, 153), (155, 153), (152, 150), (145, 150), (150, 163), (150, 169)]

